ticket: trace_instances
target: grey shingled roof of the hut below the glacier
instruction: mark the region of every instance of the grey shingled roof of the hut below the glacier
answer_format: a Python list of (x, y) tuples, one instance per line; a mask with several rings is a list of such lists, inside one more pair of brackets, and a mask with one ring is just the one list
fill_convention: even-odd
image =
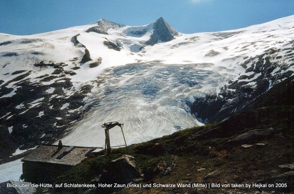
[(40, 145), (23, 158), (22, 161), (75, 166), (91, 155), (92, 151), (95, 149), (95, 147), (63, 146), (58, 150), (58, 145)]

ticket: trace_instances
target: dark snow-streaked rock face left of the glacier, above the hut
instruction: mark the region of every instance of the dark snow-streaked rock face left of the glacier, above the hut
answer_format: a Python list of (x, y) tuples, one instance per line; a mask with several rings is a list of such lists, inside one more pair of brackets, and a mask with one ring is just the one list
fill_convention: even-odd
[[(18, 147), (25, 149), (55, 140), (81, 117), (83, 98), (91, 92), (90, 85), (82, 86), (81, 90), (73, 87), (69, 77), (75, 73), (64, 70), (67, 64), (41, 61), (33, 66), (51, 69), (52, 73), (29, 77), (35, 71), (18, 71), (17, 77), (0, 87), (3, 96), (0, 98), (3, 115), (0, 118), (0, 158), (10, 156)], [(17, 90), (10, 97), (14, 88)]]

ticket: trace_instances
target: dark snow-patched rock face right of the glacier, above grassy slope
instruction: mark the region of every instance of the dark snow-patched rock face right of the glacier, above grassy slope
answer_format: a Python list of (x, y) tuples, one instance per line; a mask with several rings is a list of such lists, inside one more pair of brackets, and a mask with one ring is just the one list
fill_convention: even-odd
[[(284, 46), (289, 44), (294, 45), (294, 42), (286, 43)], [(271, 48), (261, 55), (248, 58), (240, 65), (245, 69), (245, 73), (251, 73), (250, 75), (240, 75), (238, 80), (229, 81), (218, 94), (197, 98), (191, 105), (191, 112), (202, 122), (223, 121), (229, 118), (274, 84), (294, 73), (288, 70), (293, 66), (293, 62), (291, 64), (285, 62), (293, 61), (293, 54), (285, 55), (284, 61), (276, 60), (280, 57), (279, 52), (291, 52), (291, 50), (293, 49)]]

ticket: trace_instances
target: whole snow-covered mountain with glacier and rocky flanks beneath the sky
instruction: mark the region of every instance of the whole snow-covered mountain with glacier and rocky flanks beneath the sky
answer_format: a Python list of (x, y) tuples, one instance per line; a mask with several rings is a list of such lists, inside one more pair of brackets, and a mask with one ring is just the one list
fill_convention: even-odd
[[(138, 143), (224, 120), (293, 75), (294, 16), (195, 34), (163, 18), (0, 34), (0, 69), (1, 156), (59, 138), (101, 146), (109, 121)], [(116, 128), (110, 138), (123, 140)]]

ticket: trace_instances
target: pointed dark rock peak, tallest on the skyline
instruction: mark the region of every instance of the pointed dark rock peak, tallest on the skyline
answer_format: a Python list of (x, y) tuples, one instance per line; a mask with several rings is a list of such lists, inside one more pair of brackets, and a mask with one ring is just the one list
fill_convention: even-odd
[(162, 17), (160, 17), (153, 25), (153, 34), (150, 39), (145, 43), (146, 45), (155, 45), (158, 41), (168, 42), (174, 39), (174, 36), (179, 33), (172, 28)]

